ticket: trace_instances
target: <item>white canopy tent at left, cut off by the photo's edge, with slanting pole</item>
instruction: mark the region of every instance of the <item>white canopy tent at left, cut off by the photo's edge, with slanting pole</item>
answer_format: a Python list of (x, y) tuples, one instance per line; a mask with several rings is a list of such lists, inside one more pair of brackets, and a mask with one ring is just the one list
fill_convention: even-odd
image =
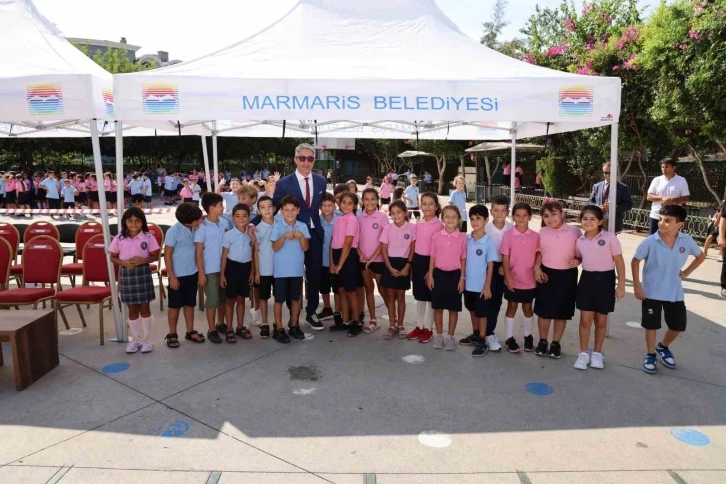
[[(0, 2), (0, 133), (56, 134), (59, 128), (89, 122), (96, 176), (103, 179), (98, 124), (112, 118), (111, 75), (66, 41), (30, 0)], [(113, 122), (111, 123), (113, 124)], [(7, 126), (7, 131), (5, 127)], [(118, 147), (117, 147), (118, 152)], [(106, 198), (99, 192), (104, 243), (111, 243)], [(106, 257), (111, 294), (118, 301), (110, 256)], [(114, 304), (117, 338), (124, 339), (123, 317)]]

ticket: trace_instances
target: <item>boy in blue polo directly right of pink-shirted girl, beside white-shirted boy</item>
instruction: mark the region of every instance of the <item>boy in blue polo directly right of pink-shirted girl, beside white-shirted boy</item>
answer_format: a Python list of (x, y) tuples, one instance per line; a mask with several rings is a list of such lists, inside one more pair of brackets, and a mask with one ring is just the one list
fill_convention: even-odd
[(484, 356), (489, 347), (484, 341), (487, 330), (489, 301), (492, 299), (494, 263), (499, 260), (497, 244), (485, 233), (489, 209), (474, 205), (469, 210), (472, 232), (466, 241), (466, 283), (464, 306), (471, 314), (473, 333), (459, 341), (462, 345), (475, 344), (471, 356)]

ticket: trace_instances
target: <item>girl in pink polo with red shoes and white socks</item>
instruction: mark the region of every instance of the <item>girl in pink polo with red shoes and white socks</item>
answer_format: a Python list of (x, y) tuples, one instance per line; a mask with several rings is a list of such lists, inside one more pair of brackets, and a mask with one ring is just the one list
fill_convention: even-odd
[(438, 195), (432, 192), (421, 195), (421, 212), (423, 219), (416, 223), (416, 250), (411, 268), (413, 298), (416, 300), (416, 328), (408, 333), (408, 339), (418, 339), (419, 343), (428, 343), (434, 336), (431, 331), (434, 315), (431, 310), (431, 290), (426, 285), (426, 274), (429, 272), (431, 260), (431, 239), (435, 233), (444, 228), (439, 219), (441, 205)]

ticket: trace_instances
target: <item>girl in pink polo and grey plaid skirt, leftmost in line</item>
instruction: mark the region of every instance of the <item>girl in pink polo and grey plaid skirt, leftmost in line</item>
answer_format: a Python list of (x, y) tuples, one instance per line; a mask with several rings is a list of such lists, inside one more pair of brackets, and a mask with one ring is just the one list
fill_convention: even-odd
[(146, 216), (132, 207), (121, 218), (121, 233), (108, 247), (111, 261), (119, 267), (118, 281), (121, 302), (129, 308), (129, 330), (132, 339), (126, 353), (148, 353), (154, 349), (151, 341), (151, 308), (154, 300), (154, 280), (149, 264), (159, 255), (159, 244), (149, 232)]

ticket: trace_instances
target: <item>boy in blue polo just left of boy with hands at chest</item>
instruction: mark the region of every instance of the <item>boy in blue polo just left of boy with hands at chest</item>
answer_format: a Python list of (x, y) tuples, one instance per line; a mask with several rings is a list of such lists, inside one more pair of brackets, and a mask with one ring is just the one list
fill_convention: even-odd
[[(268, 196), (260, 197), (257, 207), (262, 220), (257, 224), (257, 272), (255, 273), (255, 303), (261, 311), (260, 338), (270, 337), (267, 302), (275, 283), (275, 251), (272, 249), (272, 228), (275, 225), (275, 206)], [(252, 311), (250, 311), (252, 312)]]

